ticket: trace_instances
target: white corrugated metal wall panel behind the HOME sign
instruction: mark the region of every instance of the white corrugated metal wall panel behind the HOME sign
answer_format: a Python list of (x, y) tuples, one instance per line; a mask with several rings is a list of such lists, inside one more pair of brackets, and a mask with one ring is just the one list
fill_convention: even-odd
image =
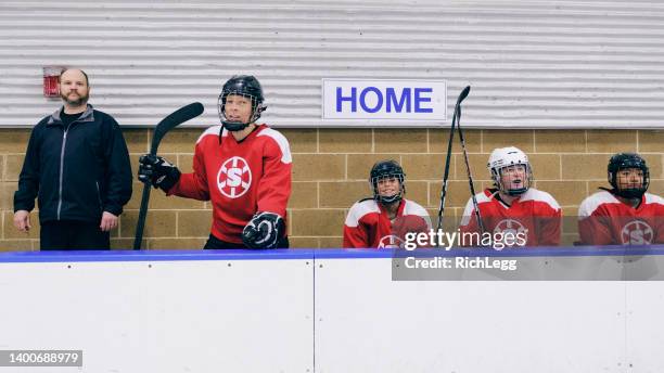
[[(444, 79), (467, 127), (664, 128), (664, 2), (1, 1), (0, 125), (59, 105), (41, 67), (80, 66), (98, 108), (150, 126), (193, 101), (218, 121), (233, 74), (256, 75), (267, 123), (321, 120), (321, 79)], [(447, 120), (449, 121), (449, 120)]]

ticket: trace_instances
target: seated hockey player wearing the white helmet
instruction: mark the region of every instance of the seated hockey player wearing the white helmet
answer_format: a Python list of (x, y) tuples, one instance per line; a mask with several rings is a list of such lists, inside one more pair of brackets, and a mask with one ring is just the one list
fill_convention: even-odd
[[(494, 240), (519, 239), (501, 246), (556, 246), (560, 244), (561, 208), (547, 192), (531, 188), (533, 168), (525, 153), (514, 146), (494, 150), (488, 170), (495, 188), (475, 195), (484, 232), (480, 232), (472, 198), (468, 201), (461, 224), (462, 233), (490, 234)], [(463, 245), (486, 245), (486, 242), (463, 242)]]

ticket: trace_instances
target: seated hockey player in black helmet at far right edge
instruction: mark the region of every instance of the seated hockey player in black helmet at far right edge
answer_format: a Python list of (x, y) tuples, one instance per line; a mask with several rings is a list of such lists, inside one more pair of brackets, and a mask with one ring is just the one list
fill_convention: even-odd
[(664, 198), (646, 193), (650, 170), (634, 153), (618, 153), (608, 167), (612, 189), (592, 194), (578, 208), (584, 245), (664, 244)]

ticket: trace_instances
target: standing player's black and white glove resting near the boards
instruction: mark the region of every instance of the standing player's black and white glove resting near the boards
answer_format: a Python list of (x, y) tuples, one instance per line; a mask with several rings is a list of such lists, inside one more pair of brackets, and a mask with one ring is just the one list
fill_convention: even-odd
[(256, 213), (242, 231), (242, 242), (251, 248), (276, 248), (284, 232), (282, 217), (273, 213)]

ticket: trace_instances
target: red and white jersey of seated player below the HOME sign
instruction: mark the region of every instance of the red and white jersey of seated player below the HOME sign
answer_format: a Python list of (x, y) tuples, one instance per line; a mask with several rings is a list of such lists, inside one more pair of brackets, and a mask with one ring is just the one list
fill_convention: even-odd
[(424, 207), (401, 200), (397, 216), (390, 220), (387, 210), (375, 200), (356, 202), (344, 223), (344, 247), (398, 248), (408, 232), (429, 232), (431, 218)]

